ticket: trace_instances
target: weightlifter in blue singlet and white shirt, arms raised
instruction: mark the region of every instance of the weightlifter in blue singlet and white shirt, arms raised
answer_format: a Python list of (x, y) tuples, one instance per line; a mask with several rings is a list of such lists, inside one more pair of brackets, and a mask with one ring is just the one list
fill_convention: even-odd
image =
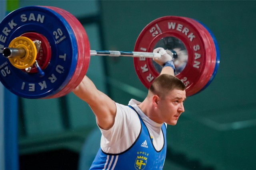
[(100, 149), (91, 170), (162, 169), (166, 157), (166, 127), (176, 125), (184, 112), (184, 84), (174, 76), (172, 57), (157, 48), (162, 66), (143, 102), (131, 99), (128, 106), (118, 104), (97, 90), (85, 76), (73, 92), (91, 107), (102, 133)]

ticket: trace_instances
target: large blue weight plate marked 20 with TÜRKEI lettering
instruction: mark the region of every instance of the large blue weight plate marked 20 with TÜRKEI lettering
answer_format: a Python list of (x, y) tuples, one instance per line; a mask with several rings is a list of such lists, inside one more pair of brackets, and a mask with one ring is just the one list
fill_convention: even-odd
[(0, 57), (0, 81), (12, 93), (23, 98), (44, 98), (58, 93), (70, 81), (76, 69), (78, 48), (68, 22), (57, 12), (28, 6), (11, 12), (0, 23), (0, 53), (10, 41), (27, 32), (46, 37), (51, 46), (50, 63), (44, 77), (24, 72)]

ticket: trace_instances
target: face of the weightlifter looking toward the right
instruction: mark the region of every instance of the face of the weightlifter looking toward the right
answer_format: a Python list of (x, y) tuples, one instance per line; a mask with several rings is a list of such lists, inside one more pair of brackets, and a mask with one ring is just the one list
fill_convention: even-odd
[(183, 102), (186, 100), (185, 90), (174, 89), (159, 98), (158, 108), (160, 120), (168, 125), (176, 125), (181, 113), (184, 112)]

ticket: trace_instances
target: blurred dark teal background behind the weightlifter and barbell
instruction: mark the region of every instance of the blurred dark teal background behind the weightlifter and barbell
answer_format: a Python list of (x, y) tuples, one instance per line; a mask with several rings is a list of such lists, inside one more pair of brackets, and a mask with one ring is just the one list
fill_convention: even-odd
[[(164, 170), (256, 168), (256, 1), (1, 0), (0, 20), (36, 5), (73, 14), (93, 50), (133, 51), (142, 29), (162, 16), (204, 23), (218, 41), (220, 66), (208, 88), (188, 97), (177, 125), (168, 126)], [(146, 96), (131, 58), (93, 56), (86, 75), (120, 104)], [(100, 147), (94, 114), (72, 93), (29, 100), (0, 84), (0, 125), (1, 170), (86, 170)]]

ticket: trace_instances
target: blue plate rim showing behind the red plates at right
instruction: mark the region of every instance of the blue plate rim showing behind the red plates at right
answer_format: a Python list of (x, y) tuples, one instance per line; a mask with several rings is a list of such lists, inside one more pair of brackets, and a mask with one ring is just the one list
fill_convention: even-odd
[(215, 50), (216, 50), (216, 63), (215, 63), (215, 67), (214, 67), (214, 71), (212, 73), (212, 76), (211, 76), (210, 80), (208, 81), (208, 83), (199, 92), (196, 93), (196, 94), (198, 94), (198, 93), (202, 92), (202, 90), (207, 88), (211, 84), (212, 80), (214, 79), (214, 77), (215, 77), (215, 75), (216, 75), (216, 73), (218, 71), (219, 64), (220, 64), (220, 51), (219, 51), (219, 46), (218, 46), (217, 40), (214, 37), (212, 31), (206, 25), (204, 25), (204, 23), (202, 23), (202, 22), (200, 22), (198, 20), (196, 20), (196, 21), (198, 23), (200, 23), (202, 26), (204, 26), (207, 29), (207, 31), (210, 33), (210, 35), (212, 37), (212, 40), (214, 42), (214, 45), (215, 45)]

